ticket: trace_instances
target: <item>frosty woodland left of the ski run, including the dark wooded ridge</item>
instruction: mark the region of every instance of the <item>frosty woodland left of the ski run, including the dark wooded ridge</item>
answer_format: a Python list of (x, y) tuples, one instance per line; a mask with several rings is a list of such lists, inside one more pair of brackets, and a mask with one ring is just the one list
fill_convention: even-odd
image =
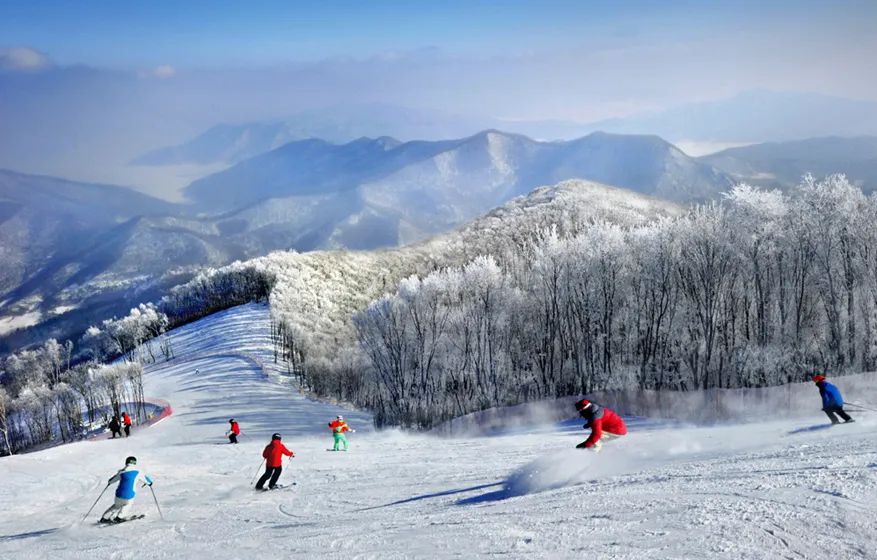
[[(145, 414), (143, 366), (174, 357), (168, 329), (267, 296), (270, 276), (239, 263), (209, 269), (121, 318), (90, 327), (78, 344), (50, 339), (0, 362), (0, 453), (85, 437), (104, 416)], [(118, 361), (116, 361), (118, 360)]]

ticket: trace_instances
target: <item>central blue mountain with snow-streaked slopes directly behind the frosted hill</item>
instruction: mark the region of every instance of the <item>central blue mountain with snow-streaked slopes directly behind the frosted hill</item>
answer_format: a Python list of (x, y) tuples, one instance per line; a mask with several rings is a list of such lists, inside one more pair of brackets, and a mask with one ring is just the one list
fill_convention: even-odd
[(343, 208), (310, 237), (316, 245), (303, 248), (370, 248), (423, 239), (537, 186), (573, 178), (684, 202), (713, 198), (732, 184), (656, 136), (595, 133), (538, 142), (489, 130), (440, 142), (291, 142), (197, 180), (185, 194), (213, 212), (265, 213), (279, 200)]

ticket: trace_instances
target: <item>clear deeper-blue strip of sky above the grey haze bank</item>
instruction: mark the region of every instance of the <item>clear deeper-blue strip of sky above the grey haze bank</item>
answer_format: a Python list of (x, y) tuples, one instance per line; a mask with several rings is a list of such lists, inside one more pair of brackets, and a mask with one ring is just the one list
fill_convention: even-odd
[(438, 49), (495, 56), (773, 29), (868, 32), (869, 1), (0, 1), (0, 47), (61, 64), (260, 66)]

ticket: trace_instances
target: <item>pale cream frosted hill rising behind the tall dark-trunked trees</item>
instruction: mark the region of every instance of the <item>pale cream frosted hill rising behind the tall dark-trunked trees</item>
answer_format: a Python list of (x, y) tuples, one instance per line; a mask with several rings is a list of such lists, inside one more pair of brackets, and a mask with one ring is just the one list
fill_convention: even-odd
[[(644, 225), (680, 216), (683, 207), (590, 181), (535, 189), (429, 241), (370, 252), (274, 252), (235, 266), (255, 266), (277, 279), (272, 315), (295, 330), (311, 352), (334, 353), (354, 339), (352, 316), (412, 275), (461, 266), (479, 255), (502, 258), (547, 228), (574, 233), (585, 224)], [(313, 355), (313, 354), (312, 354)], [(319, 358), (318, 358), (319, 359)]]

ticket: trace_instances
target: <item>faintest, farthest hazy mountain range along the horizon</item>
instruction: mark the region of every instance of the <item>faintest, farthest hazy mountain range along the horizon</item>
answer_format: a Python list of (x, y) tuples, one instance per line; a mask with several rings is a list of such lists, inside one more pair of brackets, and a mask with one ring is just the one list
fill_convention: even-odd
[(308, 138), (333, 143), (381, 135), (403, 141), (443, 140), (484, 129), (542, 140), (570, 140), (602, 131), (653, 134), (673, 143), (743, 144), (829, 135), (877, 135), (877, 103), (814, 93), (754, 90), (727, 99), (590, 123), (503, 120), (388, 104), (346, 105), (313, 109), (285, 119), (220, 124), (188, 142), (154, 150), (132, 163), (233, 164)]

